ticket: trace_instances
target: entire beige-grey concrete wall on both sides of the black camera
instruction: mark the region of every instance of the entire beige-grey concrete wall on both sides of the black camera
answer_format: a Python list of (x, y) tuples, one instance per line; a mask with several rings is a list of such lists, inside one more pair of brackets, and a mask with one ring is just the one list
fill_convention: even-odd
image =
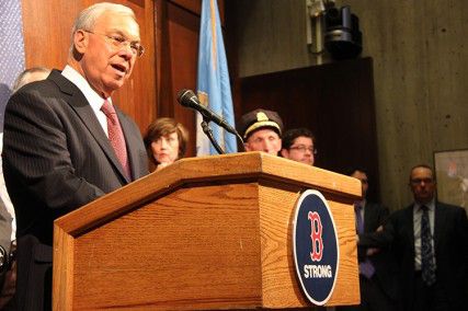
[[(316, 65), (306, 45), (306, 0), (236, 0), (239, 73)], [(381, 196), (411, 200), (411, 166), (437, 150), (468, 148), (468, 1), (345, 0), (357, 14), (363, 56), (374, 58)]]

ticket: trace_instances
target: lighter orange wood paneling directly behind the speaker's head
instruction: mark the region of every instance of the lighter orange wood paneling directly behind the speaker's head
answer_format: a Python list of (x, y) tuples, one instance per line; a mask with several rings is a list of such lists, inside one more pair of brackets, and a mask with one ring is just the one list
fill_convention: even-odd
[[(26, 68), (64, 69), (77, 14), (99, 1), (23, 0), (23, 33)], [(155, 10), (152, 0), (114, 1), (135, 11), (145, 55), (137, 59), (133, 76), (113, 95), (113, 101), (134, 117), (144, 130), (156, 116)]]

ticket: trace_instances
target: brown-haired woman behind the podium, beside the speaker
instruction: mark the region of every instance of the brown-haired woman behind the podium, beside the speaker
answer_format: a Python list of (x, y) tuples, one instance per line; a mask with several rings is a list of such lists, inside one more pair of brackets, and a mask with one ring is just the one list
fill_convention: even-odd
[(161, 117), (148, 126), (144, 140), (151, 171), (155, 171), (184, 157), (189, 131), (173, 118)]

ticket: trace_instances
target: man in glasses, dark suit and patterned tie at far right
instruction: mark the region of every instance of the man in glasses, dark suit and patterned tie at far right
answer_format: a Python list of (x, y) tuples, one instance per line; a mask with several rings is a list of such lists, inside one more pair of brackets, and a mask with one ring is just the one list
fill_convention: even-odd
[(359, 235), (359, 245), (391, 245), (404, 310), (466, 310), (466, 212), (435, 199), (436, 182), (429, 165), (411, 170), (409, 186), (414, 201), (393, 212), (384, 231)]

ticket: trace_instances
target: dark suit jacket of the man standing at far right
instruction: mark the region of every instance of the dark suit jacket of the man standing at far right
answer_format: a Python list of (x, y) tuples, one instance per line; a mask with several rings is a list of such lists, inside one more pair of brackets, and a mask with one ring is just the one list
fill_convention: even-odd
[[(463, 208), (435, 204), (434, 246), (437, 284), (447, 293), (453, 310), (467, 303), (468, 220)], [(391, 245), (399, 266), (400, 286), (407, 310), (412, 310), (414, 291), (413, 205), (393, 212), (381, 233), (359, 237), (359, 245)]]

